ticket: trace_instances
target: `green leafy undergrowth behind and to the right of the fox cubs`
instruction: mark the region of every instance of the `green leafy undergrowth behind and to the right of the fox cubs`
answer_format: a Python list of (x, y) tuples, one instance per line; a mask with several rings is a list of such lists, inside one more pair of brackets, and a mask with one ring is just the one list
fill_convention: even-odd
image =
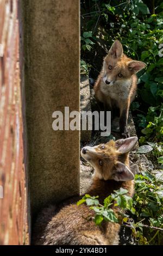
[[(156, 174), (136, 176), (135, 222), (140, 244), (161, 244), (162, 233), (143, 229), (142, 223), (163, 228), (163, 2), (160, 0), (81, 0), (81, 73), (96, 80), (103, 57), (121, 41), (127, 56), (147, 64), (139, 72), (137, 96), (131, 104), (139, 153), (148, 153)], [(163, 51), (162, 51), (163, 53)], [(149, 153), (150, 152), (150, 153)]]

